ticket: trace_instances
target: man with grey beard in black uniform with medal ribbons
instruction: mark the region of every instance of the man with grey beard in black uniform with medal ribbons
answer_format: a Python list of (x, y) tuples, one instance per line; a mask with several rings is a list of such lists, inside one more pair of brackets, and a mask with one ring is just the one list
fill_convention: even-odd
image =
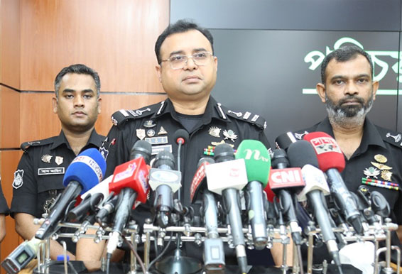
[[(363, 184), (369, 191), (381, 192), (389, 202), (391, 219), (398, 224), (401, 239), (402, 134), (366, 119), (379, 87), (379, 82), (373, 81), (370, 56), (355, 45), (339, 48), (323, 60), (321, 80), (317, 92), (327, 105), (328, 116), (311, 128), (297, 131), (296, 138), (314, 131), (334, 137), (346, 160), (342, 178), (348, 189), (357, 192)], [(393, 244), (400, 244), (396, 235)], [(322, 263), (322, 255), (315, 251), (315, 263)]]

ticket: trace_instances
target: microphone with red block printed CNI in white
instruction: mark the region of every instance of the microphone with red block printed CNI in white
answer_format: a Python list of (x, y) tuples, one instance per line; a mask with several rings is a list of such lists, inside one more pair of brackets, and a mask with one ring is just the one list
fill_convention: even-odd
[(290, 233), (296, 245), (300, 246), (303, 239), (301, 229), (298, 225), (298, 219), (295, 213), (293, 197), (290, 194), (291, 189), (299, 190), (305, 186), (300, 168), (288, 168), (289, 161), (285, 150), (276, 148), (273, 150), (272, 167), (269, 176), (269, 187), (279, 199), (281, 209), (288, 219)]

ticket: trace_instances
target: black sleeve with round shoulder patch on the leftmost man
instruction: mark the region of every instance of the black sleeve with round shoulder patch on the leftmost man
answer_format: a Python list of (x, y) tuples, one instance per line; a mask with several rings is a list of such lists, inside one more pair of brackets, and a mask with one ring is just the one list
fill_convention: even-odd
[(34, 173), (32, 153), (23, 153), (18, 168), (14, 172), (11, 217), (15, 213), (36, 215), (38, 185)]

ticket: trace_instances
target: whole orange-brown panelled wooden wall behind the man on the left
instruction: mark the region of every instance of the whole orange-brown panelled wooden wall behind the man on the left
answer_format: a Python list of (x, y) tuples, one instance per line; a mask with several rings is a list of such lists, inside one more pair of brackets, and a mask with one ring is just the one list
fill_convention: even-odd
[[(55, 75), (65, 66), (85, 63), (99, 72), (102, 114), (96, 128), (106, 135), (111, 114), (165, 99), (156, 78), (153, 53), (157, 36), (169, 23), (168, 0), (0, 0), (0, 148), (55, 136)], [(26, 92), (30, 91), (30, 92)], [(113, 92), (119, 92), (114, 94)], [(146, 92), (146, 94), (124, 94)], [(11, 202), (13, 172), (21, 150), (0, 151), (3, 190)], [(11, 217), (0, 261), (21, 239)], [(0, 270), (4, 273), (4, 270)]]

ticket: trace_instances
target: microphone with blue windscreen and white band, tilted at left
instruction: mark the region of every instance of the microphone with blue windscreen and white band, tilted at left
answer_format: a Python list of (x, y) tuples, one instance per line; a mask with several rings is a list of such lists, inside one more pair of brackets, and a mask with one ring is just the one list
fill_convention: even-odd
[(106, 162), (96, 148), (82, 151), (72, 160), (63, 178), (65, 190), (53, 206), (48, 217), (36, 231), (35, 237), (43, 240), (53, 234), (58, 222), (65, 216), (65, 211), (80, 192), (86, 192), (102, 180), (106, 170)]

